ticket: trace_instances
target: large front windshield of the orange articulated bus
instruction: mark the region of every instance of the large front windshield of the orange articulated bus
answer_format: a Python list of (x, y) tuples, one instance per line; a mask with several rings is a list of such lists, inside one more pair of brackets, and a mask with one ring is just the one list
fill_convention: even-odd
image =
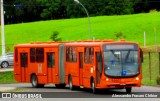
[(108, 50), (104, 52), (104, 69), (107, 76), (128, 77), (139, 73), (137, 50)]

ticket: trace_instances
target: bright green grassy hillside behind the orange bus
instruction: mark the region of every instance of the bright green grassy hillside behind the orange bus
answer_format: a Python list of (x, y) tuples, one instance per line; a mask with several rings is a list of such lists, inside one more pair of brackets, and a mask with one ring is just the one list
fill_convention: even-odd
[[(143, 33), (146, 32), (146, 44), (152, 46), (160, 44), (160, 14), (145, 13), (122, 16), (97, 16), (91, 17), (91, 34), (95, 39), (116, 39), (115, 32), (122, 32), (126, 40), (138, 42), (143, 46)], [(156, 30), (154, 30), (156, 29)], [(88, 19), (62, 19), (38, 21), (31, 23), (12, 24), (5, 26), (6, 46), (13, 51), (13, 45), (37, 41), (51, 41), (50, 36), (54, 31), (60, 33), (63, 41), (88, 39)], [(1, 38), (0, 38), (1, 41)], [(1, 48), (0, 48), (1, 52)], [(149, 80), (148, 58), (145, 56), (143, 63), (143, 84), (156, 84), (154, 78), (158, 75), (157, 55), (153, 55), (152, 80)], [(156, 75), (155, 75), (156, 74)], [(6, 79), (7, 80), (7, 79)]]

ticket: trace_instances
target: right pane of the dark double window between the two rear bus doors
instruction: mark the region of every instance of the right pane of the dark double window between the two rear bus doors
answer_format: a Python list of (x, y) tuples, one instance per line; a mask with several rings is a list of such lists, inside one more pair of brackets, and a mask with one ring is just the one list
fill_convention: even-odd
[(36, 61), (44, 62), (44, 48), (36, 48)]

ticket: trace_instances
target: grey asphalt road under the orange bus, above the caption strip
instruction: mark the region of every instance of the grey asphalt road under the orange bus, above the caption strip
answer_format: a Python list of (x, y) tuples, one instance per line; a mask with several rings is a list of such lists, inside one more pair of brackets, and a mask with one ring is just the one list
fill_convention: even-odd
[[(91, 93), (89, 89), (80, 89), (77, 88), (76, 90), (71, 91), (68, 86), (66, 86), (63, 89), (56, 88), (54, 84), (45, 85), (44, 88), (33, 88), (30, 83), (16, 83), (16, 84), (0, 84), (0, 87), (16, 87), (19, 89), (22, 89), (22, 92), (86, 92)], [(109, 89), (109, 90), (103, 90), (103, 92), (108, 93), (125, 93), (125, 89)], [(160, 87), (155, 86), (141, 86), (141, 87), (135, 87), (132, 89), (132, 92), (159, 92), (160, 93)], [(108, 94), (107, 93), (107, 94)]]

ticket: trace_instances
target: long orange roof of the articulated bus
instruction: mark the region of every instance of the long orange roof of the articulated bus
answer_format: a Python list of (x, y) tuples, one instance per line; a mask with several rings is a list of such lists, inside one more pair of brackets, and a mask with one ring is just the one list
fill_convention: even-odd
[(17, 44), (15, 47), (56, 47), (60, 44), (65, 44), (66, 46), (99, 46), (103, 44), (138, 44), (136, 42), (128, 41), (113, 41), (113, 40), (86, 40), (77, 42), (31, 42), (28, 44)]

